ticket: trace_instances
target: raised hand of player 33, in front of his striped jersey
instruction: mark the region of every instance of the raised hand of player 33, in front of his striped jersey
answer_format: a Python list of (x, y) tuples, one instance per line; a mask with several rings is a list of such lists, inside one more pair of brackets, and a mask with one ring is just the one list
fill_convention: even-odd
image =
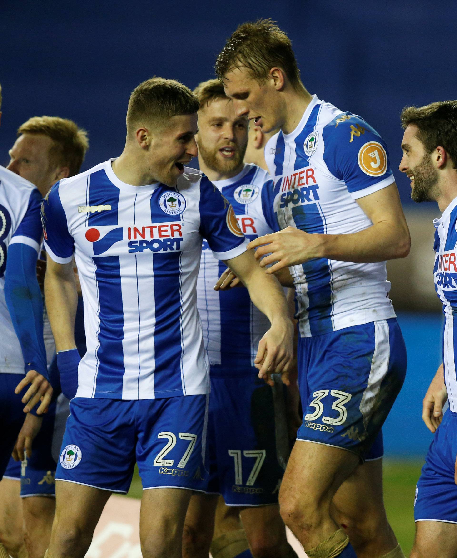
[(325, 234), (309, 234), (304, 230), (287, 227), (278, 233), (266, 234), (251, 240), (247, 249), (257, 248), (255, 258), (260, 260), (260, 267), (273, 264), (266, 269), (266, 273), (271, 275), (283, 267), (295, 266), (313, 258), (322, 258), (324, 243)]

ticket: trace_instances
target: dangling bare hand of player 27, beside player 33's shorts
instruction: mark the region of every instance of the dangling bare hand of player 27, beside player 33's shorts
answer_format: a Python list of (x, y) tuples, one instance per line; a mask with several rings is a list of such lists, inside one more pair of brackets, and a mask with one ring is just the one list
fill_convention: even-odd
[(270, 374), (281, 374), (283, 383), (288, 386), (289, 368), (293, 360), (293, 324), (288, 318), (275, 321), (259, 341), (259, 348), (254, 360), (263, 378), (269, 386), (274, 386)]

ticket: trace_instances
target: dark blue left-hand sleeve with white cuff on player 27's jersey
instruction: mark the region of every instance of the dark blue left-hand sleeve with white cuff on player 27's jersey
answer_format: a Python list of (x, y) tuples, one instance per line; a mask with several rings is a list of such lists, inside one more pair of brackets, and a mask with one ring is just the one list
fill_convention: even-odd
[(41, 204), (41, 224), (45, 249), (56, 263), (69, 263), (73, 259), (74, 240), (68, 231), (66, 214), (59, 194), (59, 182), (54, 184)]

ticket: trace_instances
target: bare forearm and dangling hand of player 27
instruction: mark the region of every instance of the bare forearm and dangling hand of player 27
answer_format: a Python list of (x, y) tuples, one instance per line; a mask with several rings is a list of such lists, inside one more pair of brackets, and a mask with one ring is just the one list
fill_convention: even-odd
[(288, 371), (293, 359), (293, 324), (279, 281), (263, 273), (252, 252), (244, 252), (226, 264), (246, 285), (255, 306), (270, 320), (271, 327), (260, 340), (254, 360), (259, 378), (264, 378), (272, 386), (274, 382), (270, 374), (279, 372), (288, 385)]

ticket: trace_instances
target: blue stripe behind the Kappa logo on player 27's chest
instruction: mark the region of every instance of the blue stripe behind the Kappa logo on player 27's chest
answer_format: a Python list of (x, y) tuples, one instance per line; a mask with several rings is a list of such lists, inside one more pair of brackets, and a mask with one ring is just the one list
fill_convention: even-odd
[(108, 179), (102, 169), (91, 174), (89, 182), (89, 205), (111, 205), (110, 210), (89, 213), (88, 224), (117, 225), (117, 210), (119, 206), (120, 190)]

